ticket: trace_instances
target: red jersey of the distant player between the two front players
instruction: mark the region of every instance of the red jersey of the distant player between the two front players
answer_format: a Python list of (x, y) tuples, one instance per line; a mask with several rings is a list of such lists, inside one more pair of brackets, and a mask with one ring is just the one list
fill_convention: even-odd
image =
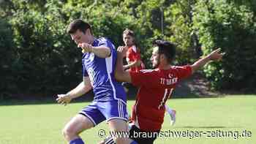
[[(132, 45), (132, 47), (129, 47), (127, 50), (127, 63), (131, 63), (134, 61), (140, 61), (140, 52), (138, 51), (138, 48), (136, 48), (135, 45)], [(129, 70), (131, 72), (139, 72), (140, 69), (144, 69), (144, 64), (140, 64), (140, 67), (131, 67)]]

